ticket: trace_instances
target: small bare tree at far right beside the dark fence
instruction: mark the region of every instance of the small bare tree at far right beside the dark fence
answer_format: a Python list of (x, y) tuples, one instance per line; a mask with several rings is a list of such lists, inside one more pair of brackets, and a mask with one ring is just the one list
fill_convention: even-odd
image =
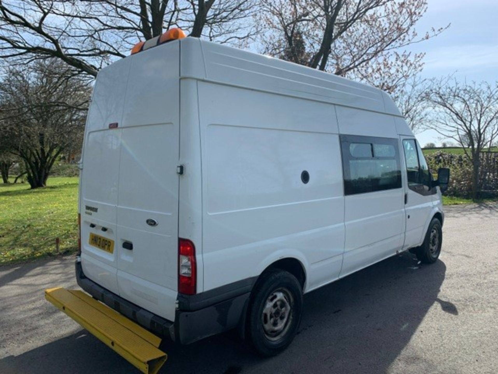
[(434, 81), (427, 94), (433, 113), (429, 127), (463, 147), (472, 162), (472, 194), (479, 194), (481, 152), (498, 137), (498, 82), (459, 83), (453, 78)]

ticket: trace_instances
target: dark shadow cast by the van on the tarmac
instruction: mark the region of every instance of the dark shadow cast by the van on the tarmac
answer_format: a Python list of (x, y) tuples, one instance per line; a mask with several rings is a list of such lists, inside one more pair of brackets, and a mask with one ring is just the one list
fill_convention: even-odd
[[(165, 341), (160, 373), (385, 373), (435, 303), (458, 314), (438, 298), (445, 273), (441, 260), (418, 265), (409, 253), (391, 257), (305, 295), (298, 335), (281, 355), (261, 359), (234, 332), (183, 347)], [(0, 360), (5, 374), (59, 370), (138, 373), (84, 330)]]

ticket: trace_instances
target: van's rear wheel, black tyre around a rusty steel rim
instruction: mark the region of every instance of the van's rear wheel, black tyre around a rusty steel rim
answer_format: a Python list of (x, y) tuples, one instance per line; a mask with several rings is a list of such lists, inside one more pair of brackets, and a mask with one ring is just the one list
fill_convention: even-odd
[(303, 305), (303, 292), (296, 277), (271, 269), (261, 274), (248, 309), (247, 337), (261, 356), (275, 356), (294, 339)]

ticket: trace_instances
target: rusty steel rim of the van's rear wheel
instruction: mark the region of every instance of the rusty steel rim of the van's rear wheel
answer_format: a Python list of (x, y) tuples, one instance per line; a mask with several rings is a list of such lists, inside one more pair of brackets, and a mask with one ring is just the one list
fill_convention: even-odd
[(261, 323), (266, 339), (276, 341), (284, 336), (292, 322), (294, 298), (286, 288), (271, 292), (261, 314)]

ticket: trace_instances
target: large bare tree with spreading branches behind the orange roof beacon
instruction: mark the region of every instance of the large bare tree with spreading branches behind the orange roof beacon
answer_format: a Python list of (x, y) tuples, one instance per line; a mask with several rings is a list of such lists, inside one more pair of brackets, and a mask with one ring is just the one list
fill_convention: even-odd
[(181, 26), (220, 42), (244, 39), (254, 0), (0, 0), (0, 56), (9, 64), (58, 58), (97, 76), (140, 39)]

